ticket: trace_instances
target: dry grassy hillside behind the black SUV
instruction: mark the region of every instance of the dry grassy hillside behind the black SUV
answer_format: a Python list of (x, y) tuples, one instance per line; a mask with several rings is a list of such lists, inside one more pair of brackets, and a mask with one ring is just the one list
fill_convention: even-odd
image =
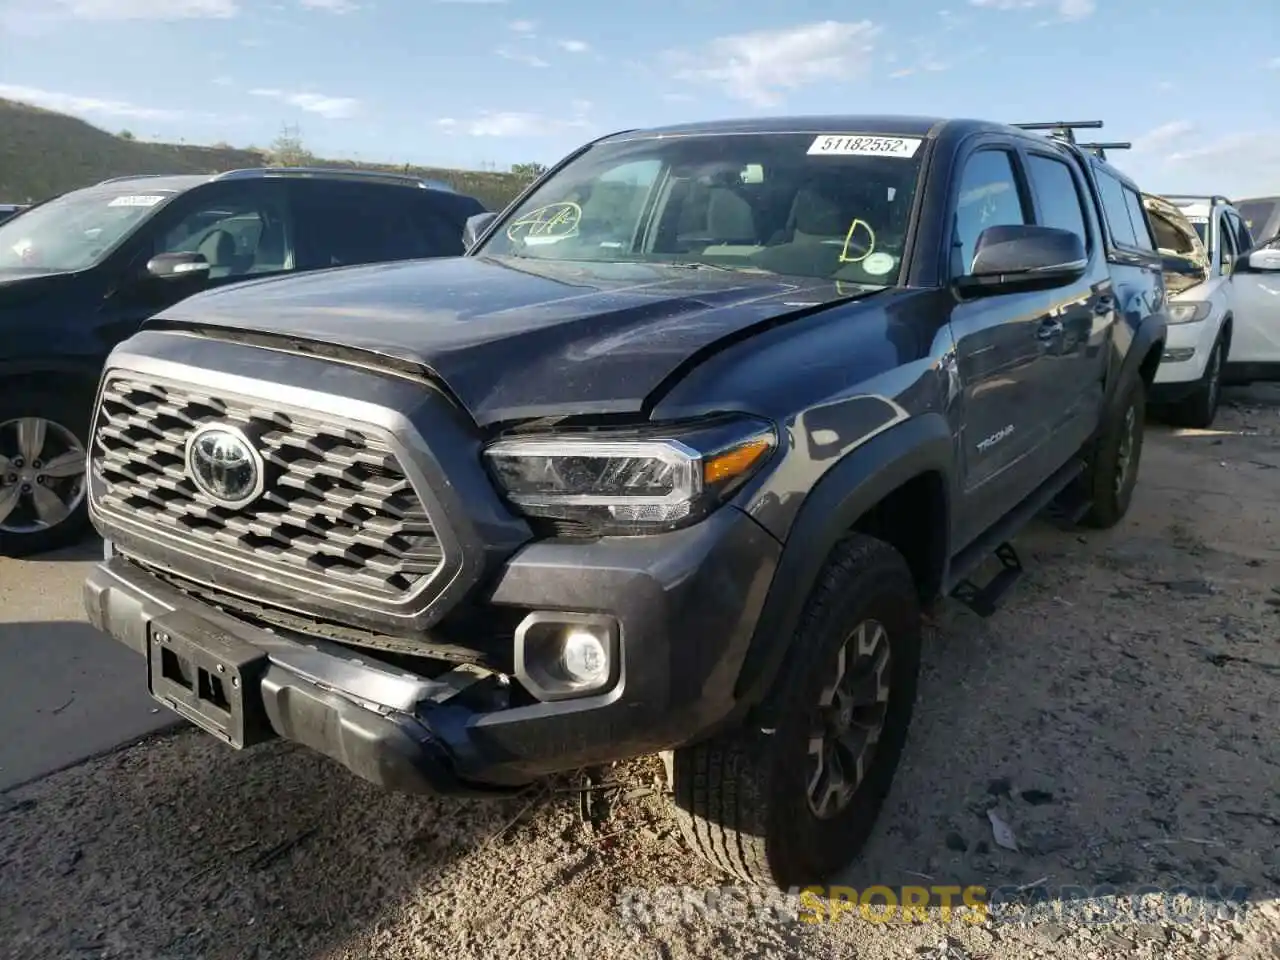
[[(316, 166), (351, 168), (342, 160)], [(84, 187), (109, 177), (140, 173), (219, 173), (270, 164), (266, 151), (140, 143), (84, 120), (13, 100), (0, 100), (0, 202), (27, 202)], [(444, 180), (498, 210), (526, 179), (509, 173), (438, 170), (425, 166), (358, 164), (362, 169), (410, 173)]]

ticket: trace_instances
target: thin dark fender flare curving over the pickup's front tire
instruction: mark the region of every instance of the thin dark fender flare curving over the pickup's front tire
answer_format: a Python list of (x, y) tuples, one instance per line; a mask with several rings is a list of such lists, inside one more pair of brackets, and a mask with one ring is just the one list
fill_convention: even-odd
[[(769, 726), (768, 692), (778, 676), (814, 584), (840, 539), (859, 517), (922, 474), (943, 479), (943, 566), (950, 558), (955, 443), (942, 413), (892, 426), (845, 454), (805, 498), (791, 525), (735, 687), (739, 709), (756, 709)], [(940, 581), (945, 571), (938, 571)]]

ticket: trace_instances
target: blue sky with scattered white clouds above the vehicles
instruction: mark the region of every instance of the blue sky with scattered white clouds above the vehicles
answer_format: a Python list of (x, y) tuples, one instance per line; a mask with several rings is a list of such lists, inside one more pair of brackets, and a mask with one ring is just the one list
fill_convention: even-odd
[(0, 96), (439, 166), (787, 113), (1103, 119), (1147, 189), (1280, 192), (1276, 0), (0, 0)]

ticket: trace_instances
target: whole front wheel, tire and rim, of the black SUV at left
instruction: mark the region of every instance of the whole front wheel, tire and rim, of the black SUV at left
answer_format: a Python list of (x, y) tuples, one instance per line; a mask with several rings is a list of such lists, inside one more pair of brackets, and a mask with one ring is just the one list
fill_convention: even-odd
[(0, 557), (45, 553), (84, 535), (90, 406), (79, 389), (0, 383)]

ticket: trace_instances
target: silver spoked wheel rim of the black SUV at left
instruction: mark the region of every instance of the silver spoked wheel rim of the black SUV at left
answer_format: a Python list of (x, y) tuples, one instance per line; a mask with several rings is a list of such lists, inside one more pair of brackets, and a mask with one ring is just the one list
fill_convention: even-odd
[(63, 524), (84, 499), (84, 447), (42, 417), (0, 422), (0, 532), (37, 534)]

